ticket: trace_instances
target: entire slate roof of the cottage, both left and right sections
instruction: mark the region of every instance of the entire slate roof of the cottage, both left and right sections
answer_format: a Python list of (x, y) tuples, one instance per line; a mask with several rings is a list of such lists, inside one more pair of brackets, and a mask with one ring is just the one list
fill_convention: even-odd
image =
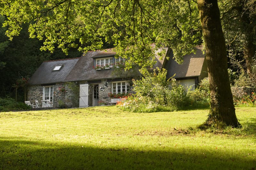
[[(151, 45), (155, 47), (154, 44)], [(165, 54), (161, 58), (157, 55), (161, 50), (165, 50)], [(201, 51), (202, 47), (196, 48), (196, 54), (189, 54), (184, 56), (184, 63), (179, 65), (173, 57), (172, 50), (168, 47), (163, 47), (155, 51), (156, 64), (153, 68), (160, 67), (167, 69), (167, 78), (176, 73), (175, 78), (193, 77), (201, 74), (202, 66), (204, 63), (204, 55)], [(29, 84), (50, 84), (65, 81), (92, 81), (109, 78), (120, 78), (111, 75), (113, 69), (95, 70), (94, 59), (114, 56), (116, 52), (113, 49), (88, 51), (80, 58), (44, 61), (41, 66), (36, 70), (33, 76), (28, 81)], [(164, 61), (165, 56), (170, 59)], [(165, 62), (165, 63), (164, 63)], [(63, 65), (60, 71), (52, 71), (56, 65)]]

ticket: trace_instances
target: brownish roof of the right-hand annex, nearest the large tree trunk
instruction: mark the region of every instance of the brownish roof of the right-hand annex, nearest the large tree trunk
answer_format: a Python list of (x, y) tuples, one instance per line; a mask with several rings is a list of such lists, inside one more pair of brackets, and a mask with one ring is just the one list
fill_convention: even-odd
[(167, 78), (185, 78), (200, 76), (205, 54), (202, 52), (202, 46), (196, 47), (196, 54), (191, 53), (184, 56), (183, 64), (178, 64), (173, 57), (173, 53), (170, 53), (170, 59), (166, 61), (164, 68), (167, 69)]

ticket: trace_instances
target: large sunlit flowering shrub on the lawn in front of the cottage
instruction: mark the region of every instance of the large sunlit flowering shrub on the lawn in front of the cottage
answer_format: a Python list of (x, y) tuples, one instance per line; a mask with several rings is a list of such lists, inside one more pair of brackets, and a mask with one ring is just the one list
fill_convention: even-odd
[(188, 105), (187, 91), (175, 79), (166, 80), (167, 71), (158, 69), (146, 73), (141, 80), (133, 80), (133, 96), (121, 102), (124, 110), (133, 112), (173, 111)]

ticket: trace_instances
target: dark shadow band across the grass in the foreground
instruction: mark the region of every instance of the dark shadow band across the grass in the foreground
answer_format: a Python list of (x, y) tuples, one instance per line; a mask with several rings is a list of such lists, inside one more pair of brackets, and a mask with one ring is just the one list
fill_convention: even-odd
[(160, 149), (99, 148), (86, 144), (82, 147), (0, 138), (0, 169), (252, 169), (256, 166), (253, 156), (237, 157), (228, 149), (200, 146)]

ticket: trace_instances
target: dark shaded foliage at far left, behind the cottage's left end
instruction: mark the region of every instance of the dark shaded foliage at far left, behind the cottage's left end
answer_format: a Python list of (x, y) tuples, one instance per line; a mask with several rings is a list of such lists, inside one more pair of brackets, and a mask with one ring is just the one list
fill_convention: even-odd
[[(8, 40), (2, 27), (5, 18), (0, 15), (0, 96), (15, 98), (16, 82), (31, 77), (43, 61), (80, 57), (81, 52), (73, 48), (65, 55), (60, 49), (53, 53), (41, 51), (43, 41), (30, 39), (28, 25), (22, 25), (19, 36)], [(18, 101), (24, 101), (24, 89), (18, 88)]]

